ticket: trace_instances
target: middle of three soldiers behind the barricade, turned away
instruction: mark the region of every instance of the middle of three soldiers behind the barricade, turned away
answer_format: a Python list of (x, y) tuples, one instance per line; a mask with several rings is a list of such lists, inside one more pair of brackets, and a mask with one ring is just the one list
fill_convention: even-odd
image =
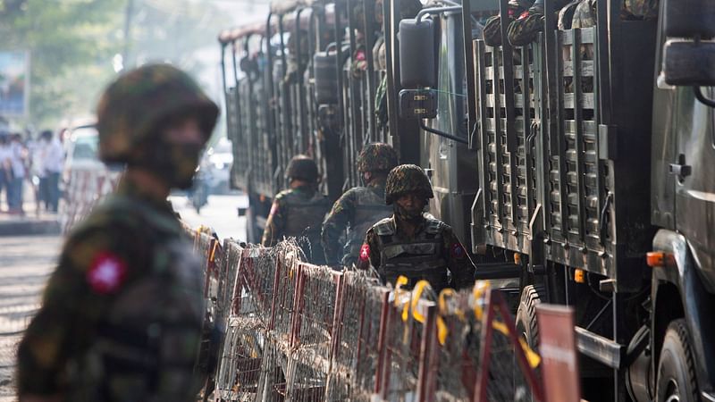
[[(366, 231), (392, 214), (391, 206), (385, 204), (385, 180), (395, 166), (397, 153), (388, 144), (368, 144), (357, 155), (357, 172), (365, 186), (346, 191), (325, 218), (323, 249), (326, 264), (351, 266), (357, 263)], [(346, 229), (347, 241), (343, 245), (340, 239)]]

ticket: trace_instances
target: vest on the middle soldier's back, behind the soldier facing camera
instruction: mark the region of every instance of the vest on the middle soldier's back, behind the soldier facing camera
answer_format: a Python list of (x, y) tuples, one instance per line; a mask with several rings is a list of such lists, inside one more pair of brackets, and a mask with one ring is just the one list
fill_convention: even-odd
[(355, 192), (355, 216), (350, 222), (347, 241), (343, 249), (343, 265), (357, 262), (367, 230), (372, 228), (375, 222), (388, 218), (392, 214), (392, 207), (385, 204), (384, 188), (358, 187), (355, 188)]

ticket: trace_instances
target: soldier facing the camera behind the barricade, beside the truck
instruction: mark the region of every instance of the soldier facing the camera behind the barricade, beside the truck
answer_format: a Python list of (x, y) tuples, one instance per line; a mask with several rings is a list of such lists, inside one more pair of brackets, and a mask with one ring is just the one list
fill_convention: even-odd
[(438, 293), (471, 286), (475, 265), (457, 236), (446, 223), (423, 214), (433, 197), (432, 185), (419, 166), (401, 164), (392, 169), (385, 202), (393, 205), (394, 214), (367, 230), (358, 268), (372, 265), (383, 283), (392, 286), (400, 275), (408, 278), (407, 288), (426, 280)]

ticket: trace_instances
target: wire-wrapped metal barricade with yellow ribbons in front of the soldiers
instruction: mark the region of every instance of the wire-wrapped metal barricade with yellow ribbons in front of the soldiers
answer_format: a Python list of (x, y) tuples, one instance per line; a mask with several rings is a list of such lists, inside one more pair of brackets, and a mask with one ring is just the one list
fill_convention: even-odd
[[(198, 242), (208, 267), (214, 246)], [(385, 288), (300, 261), (294, 242), (229, 240), (221, 255), (214, 272), (227, 285), (216, 289), (231, 297), (216, 297), (226, 312), (216, 401), (543, 400), (539, 356), (496, 289), (435, 299), (426, 282)]]

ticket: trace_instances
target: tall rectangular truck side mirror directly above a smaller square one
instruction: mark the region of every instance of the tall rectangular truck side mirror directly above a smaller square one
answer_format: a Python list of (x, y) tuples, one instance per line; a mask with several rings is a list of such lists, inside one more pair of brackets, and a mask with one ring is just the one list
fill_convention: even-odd
[(434, 88), (437, 86), (435, 71), (433, 21), (400, 21), (400, 86)]

